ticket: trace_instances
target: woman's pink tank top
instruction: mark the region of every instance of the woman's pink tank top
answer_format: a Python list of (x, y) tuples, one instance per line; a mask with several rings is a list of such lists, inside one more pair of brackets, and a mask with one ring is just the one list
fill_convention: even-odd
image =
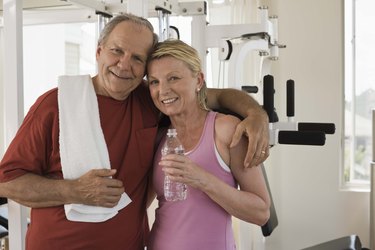
[[(215, 154), (215, 112), (209, 112), (196, 147), (186, 155), (228, 185), (236, 187), (232, 174), (224, 170)], [(185, 201), (168, 202), (163, 195), (164, 173), (158, 165), (161, 146), (154, 159), (154, 189), (159, 207), (150, 233), (148, 250), (236, 249), (231, 215), (205, 193), (188, 186)]]

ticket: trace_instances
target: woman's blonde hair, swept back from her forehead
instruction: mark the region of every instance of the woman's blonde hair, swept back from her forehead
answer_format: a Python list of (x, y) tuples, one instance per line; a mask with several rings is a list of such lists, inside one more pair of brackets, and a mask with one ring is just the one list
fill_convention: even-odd
[[(198, 75), (202, 72), (202, 64), (197, 50), (181, 40), (168, 39), (157, 43), (148, 61), (167, 56), (184, 62), (193, 75)], [(204, 110), (209, 110), (207, 107), (207, 86), (204, 79), (202, 87), (197, 92), (197, 97), (199, 106)]]

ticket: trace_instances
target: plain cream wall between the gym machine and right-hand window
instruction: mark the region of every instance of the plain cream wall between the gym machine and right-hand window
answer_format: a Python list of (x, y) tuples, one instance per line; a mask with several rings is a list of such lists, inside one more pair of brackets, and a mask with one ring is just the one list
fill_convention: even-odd
[[(266, 1), (265, 1), (266, 2)], [(343, 1), (273, 0), (279, 40), (275, 107), (286, 121), (285, 83), (295, 80), (296, 121), (333, 122), (326, 145), (277, 145), (266, 162), (279, 226), (267, 249), (301, 249), (357, 234), (369, 246), (369, 193), (340, 191), (343, 105)]]

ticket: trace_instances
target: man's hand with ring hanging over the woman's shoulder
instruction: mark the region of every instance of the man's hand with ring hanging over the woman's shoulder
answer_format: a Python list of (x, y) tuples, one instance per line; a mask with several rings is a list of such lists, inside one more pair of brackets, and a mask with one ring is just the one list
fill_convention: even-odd
[(231, 147), (237, 145), (241, 136), (247, 136), (249, 146), (245, 157), (245, 167), (255, 167), (264, 162), (269, 156), (269, 124), (265, 112), (248, 115), (236, 128)]

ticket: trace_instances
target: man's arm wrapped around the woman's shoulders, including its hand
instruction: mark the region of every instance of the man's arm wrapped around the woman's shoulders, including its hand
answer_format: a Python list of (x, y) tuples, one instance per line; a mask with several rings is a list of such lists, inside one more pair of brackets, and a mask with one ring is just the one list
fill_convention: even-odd
[(208, 89), (207, 102), (211, 109), (228, 109), (244, 120), (238, 124), (231, 146), (237, 145), (245, 134), (249, 146), (245, 167), (254, 167), (269, 156), (268, 116), (263, 108), (247, 93), (236, 89)]

